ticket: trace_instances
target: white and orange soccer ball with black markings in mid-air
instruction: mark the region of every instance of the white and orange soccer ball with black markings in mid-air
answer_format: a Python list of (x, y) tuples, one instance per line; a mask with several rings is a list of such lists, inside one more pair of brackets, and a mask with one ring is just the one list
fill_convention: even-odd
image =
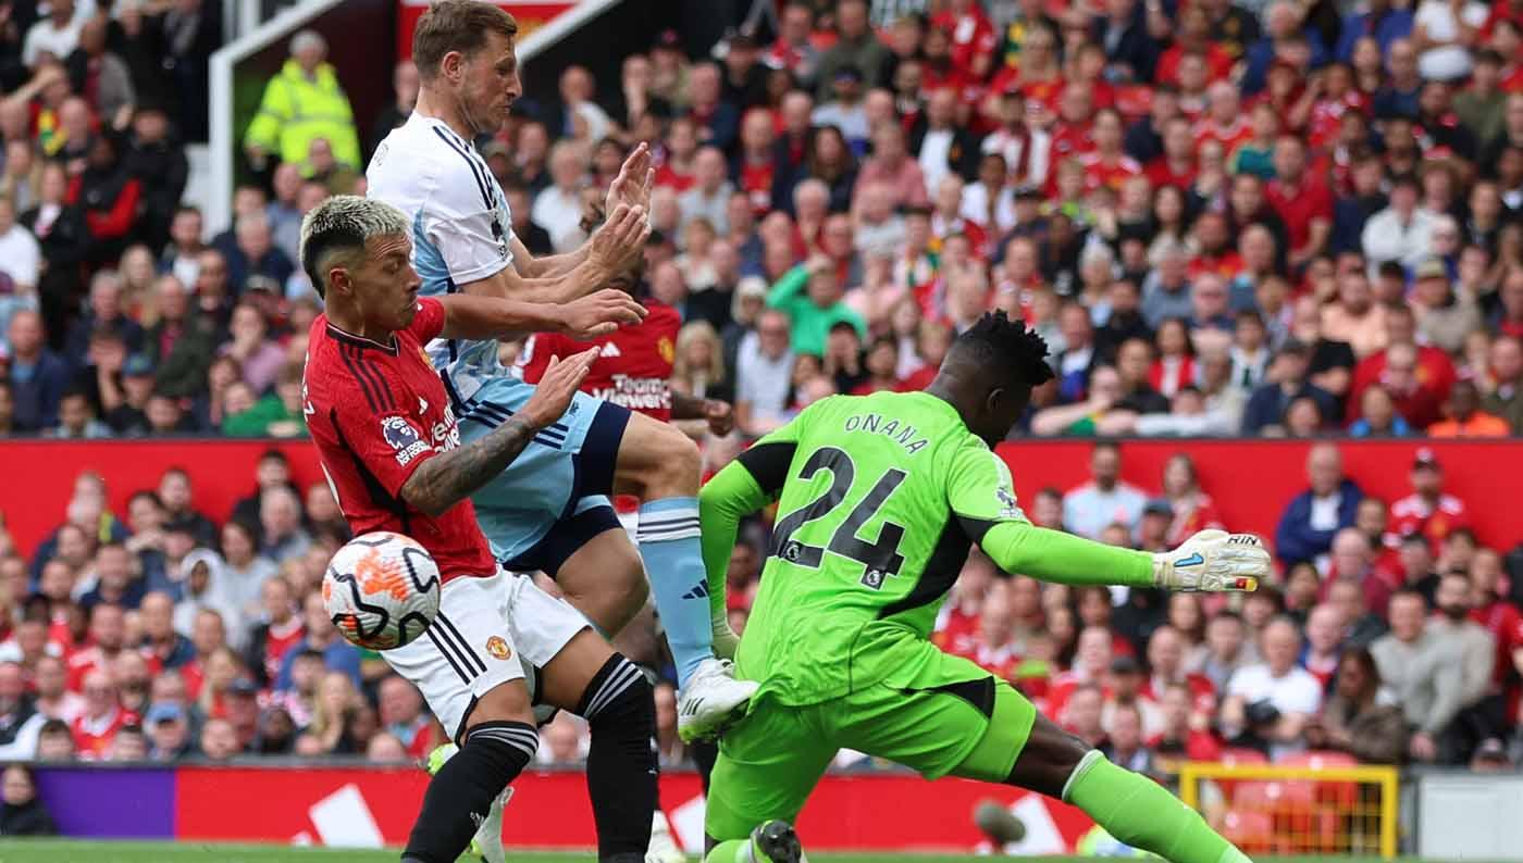
[(439, 565), (399, 533), (356, 536), (327, 563), (323, 604), (350, 644), (402, 647), (439, 615)]

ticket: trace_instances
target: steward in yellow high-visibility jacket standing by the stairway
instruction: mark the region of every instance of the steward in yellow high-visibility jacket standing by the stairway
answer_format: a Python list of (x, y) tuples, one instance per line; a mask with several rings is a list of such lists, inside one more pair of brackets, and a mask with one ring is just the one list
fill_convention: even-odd
[(312, 30), (291, 38), (291, 59), (265, 85), (259, 113), (244, 134), (244, 149), (256, 163), (268, 154), (311, 175), (306, 161), (312, 142), (327, 139), (340, 164), (362, 167), (355, 114), (338, 75), (323, 61), (326, 55), (327, 43)]

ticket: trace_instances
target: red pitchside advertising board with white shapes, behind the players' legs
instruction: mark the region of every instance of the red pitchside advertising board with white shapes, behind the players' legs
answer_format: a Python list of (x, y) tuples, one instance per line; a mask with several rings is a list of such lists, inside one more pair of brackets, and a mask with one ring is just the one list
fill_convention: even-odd
[[(423, 801), (420, 770), (184, 767), (177, 770), (175, 837), (297, 845), (402, 845)], [(580, 772), (532, 772), (513, 782), (503, 819), (512, 848), (594, 848)], [(975, 851), (973, 807), (996, 799), (1027, 823), (1022, 851), (1069, 852), (1094, 825), (1028, 791), (905, 773), (825, 776), (800, 817), (807, 848)], [(702, 788), (693, 773), (661, 776), (661, 804), (690, 851), (702, 848)], [(914, 817), (903, 817), (914, 813)]]

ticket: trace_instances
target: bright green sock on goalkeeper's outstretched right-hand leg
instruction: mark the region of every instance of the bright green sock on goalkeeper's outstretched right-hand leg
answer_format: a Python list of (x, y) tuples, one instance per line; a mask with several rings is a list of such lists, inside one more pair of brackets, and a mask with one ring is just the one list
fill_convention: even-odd
[(1250, 863), (1168, 788), (1116, 767), (1098, 750), (1080, 761), (1063, 799), (1118, 840), (1171, 863)]

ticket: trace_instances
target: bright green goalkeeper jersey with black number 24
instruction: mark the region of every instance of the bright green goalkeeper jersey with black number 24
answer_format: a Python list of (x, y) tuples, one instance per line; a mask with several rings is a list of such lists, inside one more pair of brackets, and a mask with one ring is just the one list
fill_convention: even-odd
[[(836, 396), (763, 437), (704, 487), (710, 584), (739, 519), (777, 499), (737, 673), (783, 703), (885, 682), (914, 688), (941, 603), (978, 542), (1005, 571), (1151, 584), (1151, 557), (1033, 527), (1010, 469), (929, 393)], [(912, 645), (914, 650), (899, 647)]]

